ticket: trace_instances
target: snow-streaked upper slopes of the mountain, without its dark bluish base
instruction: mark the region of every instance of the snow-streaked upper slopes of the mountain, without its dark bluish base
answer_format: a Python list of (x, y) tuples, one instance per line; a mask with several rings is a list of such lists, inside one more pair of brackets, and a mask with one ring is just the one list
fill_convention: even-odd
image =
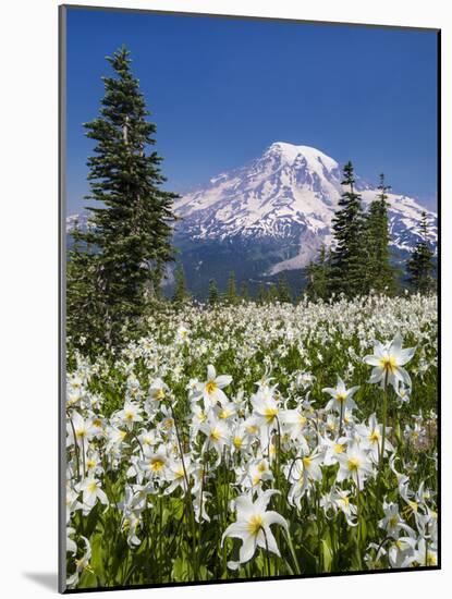
[[(243, 168), (220, 174), (206, 187), (184, 195), (175, 205), (182, 217), (176, 239), (203, 242), (234, 241), (249, 245), (276, 242), (288, 254), (268, 268), (272, 274), (300, 269), (319, 246), (331, 243), (331, 221), (343, 192), (340, 164), (320, 150), (283, 142)], [(357, 179), (366, 206), (378, 190)], [(418, 240), (420, 215), (414, 198), (389, 194), (392, 244), (411, 250)], [(431, 243), (436, 243), (436, 215), (429, 210)], [(296, 249), (296, 250), (295, 250)]]

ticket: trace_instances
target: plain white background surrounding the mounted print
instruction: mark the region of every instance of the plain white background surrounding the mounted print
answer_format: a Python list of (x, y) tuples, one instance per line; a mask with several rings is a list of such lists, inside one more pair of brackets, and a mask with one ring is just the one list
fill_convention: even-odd
[[(56, 594), (58, 376), (57, 0), (0, 4), (0, 592)], [(451, 74), (447, 0), (85, 0), (84, 4), (442, 28), (443, 41), (443, 571), (125, 591), (155, 599), (274, 594), (450, 596), (451, 554)], [(105, 597), (93, 594), (91, 597)]]

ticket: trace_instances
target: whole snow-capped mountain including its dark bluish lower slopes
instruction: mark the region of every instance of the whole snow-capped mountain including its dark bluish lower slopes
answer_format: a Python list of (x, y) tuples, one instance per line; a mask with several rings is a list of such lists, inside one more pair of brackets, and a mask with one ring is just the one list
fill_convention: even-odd
[[(378, 171), (377, 171), (378, 172)], [(320, 150), (278, 142), (242, 168), (215, 176), (174, 206), (180, 217), (174, 230), (191, 291), (204, 297), (210, 278), (224, 288), (234, 270), (252, 290), (284, 271), (295, 293), (303, 286), (303, 269), (321, 244), (332, 243), (331, 223), (343, 193), (342, 166)], [(356, 176), (366, 208), (378, 190)], [(416, 199), (390, 193), (389, 219), (395, 261), (403, 266), (419, 240), (422, 212), (437, 243), (437, 216)], [(69, 217), (88, 225), (86, 215)], [(169, 282), (171, 283), (171, 272)]]

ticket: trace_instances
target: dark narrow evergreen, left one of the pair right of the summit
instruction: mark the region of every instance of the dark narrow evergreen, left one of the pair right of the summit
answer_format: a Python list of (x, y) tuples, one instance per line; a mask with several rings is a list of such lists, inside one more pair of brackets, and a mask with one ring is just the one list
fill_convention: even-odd
[(349, 187), (339, 200), (333, 218), (335, 248), (331, 264), (331, 291), (354, 297), (365, 292), (364, 215), (361, 195), (355, 192), (352, 162), (344, 167), (342, 185)]

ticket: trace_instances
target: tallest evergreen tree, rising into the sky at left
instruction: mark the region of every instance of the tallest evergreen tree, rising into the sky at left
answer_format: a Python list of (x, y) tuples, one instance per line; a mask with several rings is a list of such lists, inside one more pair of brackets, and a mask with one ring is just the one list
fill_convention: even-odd
[[(107, 60), (114, 76), (103, 77), (99, 117), (84, 125), (96, 142), (87, 198), (99, 206), (88, 208), (93, 227), (75, 236), (96, 254), (95, 292), (101, 294), (96, 303), (102, 306), (103, 340), (112, 344), (124, 325), (138, 325), (149, 298), (159, 293), (166, 264), (173, 258), (172, 203), (178, 196), (160, 188), (166, 181), (161, 158), (148, 151), (156, 125), (147, 120), (130, 52), (123, 47)], [(68, 310), (73, 309), (69, 303)]]

